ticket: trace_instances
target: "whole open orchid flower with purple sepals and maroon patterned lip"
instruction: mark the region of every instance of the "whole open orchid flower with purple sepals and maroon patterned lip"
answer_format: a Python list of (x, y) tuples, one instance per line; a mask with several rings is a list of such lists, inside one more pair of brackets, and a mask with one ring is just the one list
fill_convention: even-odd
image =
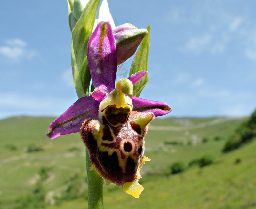
[(98, 23), (88, 42), (88, 66), (95, 89), (78, 99), (52, 122), (47, 137), (80, 132), (92, 166), (107, 184), (123, 186), (138, 198), (138, 183), (145, 161), (144, 137), (155, 116), (171, 112), (164, 102), (132, 96), (133, 84), (147, 74), (139, 71), (116, 84), (117, 54), (109, 22)]

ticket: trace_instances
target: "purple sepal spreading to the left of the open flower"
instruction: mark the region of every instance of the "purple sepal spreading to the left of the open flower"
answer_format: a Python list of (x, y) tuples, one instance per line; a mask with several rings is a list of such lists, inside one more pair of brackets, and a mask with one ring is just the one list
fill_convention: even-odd
[(51, 123), (46, 136), (54, 139), (60, 135), (80, 132), (80, 125), (86, 118), (98, 118), (99, 104), (92, 96), (78, 99)]

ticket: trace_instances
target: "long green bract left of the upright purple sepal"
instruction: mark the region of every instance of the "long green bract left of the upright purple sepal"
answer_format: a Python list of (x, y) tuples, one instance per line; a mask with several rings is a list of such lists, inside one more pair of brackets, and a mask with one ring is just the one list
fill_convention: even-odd
[(88, 95), (88, 90), (86, 89), (89, 89), (91, 78), (88, 79), (88, 77), (85, 77), (90, 74), (89, 68), (87, 67), (86, 58), (87, 45), (92, 34), (99, 3), (100, 0), (90, 0), (84, 9), (84, 12), (77, 21), (76, 26), (72, 30), (71, 61), (73, 68), (73, 81), (79, 98), (82, 95)]

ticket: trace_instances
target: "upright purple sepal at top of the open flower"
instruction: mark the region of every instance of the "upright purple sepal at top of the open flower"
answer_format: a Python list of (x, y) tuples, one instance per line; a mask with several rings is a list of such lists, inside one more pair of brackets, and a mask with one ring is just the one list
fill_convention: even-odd
[(108, 92), (115, 89), (116, 44), (109, 22), (99, 22), (88, 42), (88, 66), (95, 87), (104, 85)]

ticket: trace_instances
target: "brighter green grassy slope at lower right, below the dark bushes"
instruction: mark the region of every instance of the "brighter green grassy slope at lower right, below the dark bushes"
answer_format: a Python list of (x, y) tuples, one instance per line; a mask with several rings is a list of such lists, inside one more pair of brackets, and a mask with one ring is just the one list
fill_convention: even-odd
[[(169, 177), (145, 177), (144, 191), (134, 199), (108, 193), (106, 208), (255, 208), (256, 141), (217, 158), (217, 163)], [(235, 164), (236, 158), (241, 163)], [(117, 201), (118, 200), (118, 201)]]

